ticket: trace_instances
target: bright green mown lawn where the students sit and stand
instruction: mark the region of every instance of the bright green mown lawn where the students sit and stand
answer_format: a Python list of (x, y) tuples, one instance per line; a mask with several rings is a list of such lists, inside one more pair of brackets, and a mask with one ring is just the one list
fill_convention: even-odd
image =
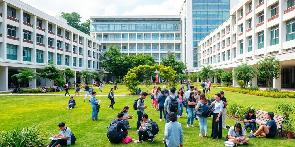
[[(113, 85), (107, 85), (103, 87), (102, 94), (108, 94), (109, 89)], [(143, 90), (145, 86), (140, 86)], [(152, 86), (150, 87), (150, 89)], [(221, 88), (212, 88), (211, 94), (219, 92)], [(145, 90), (144, 90), (145, 91)], [(72, 91), (73, 92), (73, 91)], [(70, 91), (70, 94), (73, 95)], [(128, 94), (124, 85), (119, 85), (119, 90), (114, 91), (116, 94)], [(84, 93), (83, 93), (84, 94)], [(101, 93), (97, 93), (101, 94)], [(110, 104), (109, 99), (106, 96), (96, 96), (97, 99), (102, 99), (101, 108), (99, 109), (99, 121), (91, 121), (91, 106), (88, 102), (83, 102), (83, 97), (75, 97), (77, 105), (72, 110), (66, 110), (68, 96), (0, 96), (0, 130), (10, 129), (12, 126), (16, 126), (17, 123), (23, 125), (38, 124), (41, 131), (49, 137), (49, 133), (58, 133), (58, 123), (64, 122), (66, 126), (71, 128), (72, 132), (77, 137), (76, 147), (90, 147), (90, 146), (126, 146), (122, 143), (112, 144), (108, 141), (106, 136), (106, 129), (110, 121), (116, 118), (117, 113), (126, 105), (132, 107), (132, 104), (137, 97), (135, 96), (118, 96), (115, 97), (115, 110), (109, 110), (107, 105)], [(277, 103), (289, 102), (295, 103), (295, 99), (292, 98), (267, 98), (261, 96), (253, 96), (242, 93), (235, 93), (225, 91), (225, 97), (229, 103), (240, 102), (245, 104), (255, 104), (260, 109), (265, 111), (273, 111), (274, 106)], [(156, 121), (159, 125), (160, 131), (156, 135), (154, 143), (150, 140), (143, 141), (142, 144), (129, 143), (128, 146), (164, 146), (162, 142), (164, 134), (164, 121), (159, 121), (159, 112), (151, 108), (152, 100), (147, 97), (145, 99), (145, 105), (148, 106), (145, 109), (145, 113), (148, 114), (150, 119)], [(184, 112), (185, 113), (185, 112)], [(128, 136), (137, 139), (136, 122), (137, 115), (133, 108), (130, 108), (129, 114), (135, 114), (135, 117), (130, 119), (130, 126), (132, 129), (128, 131)], [(228, 133), (228, 130), (222, 129), (222, 139), (213, 140), (212, 138), (200, 138), (199, 122), (194, 121), (195, 128), (186, 128), (186, 118), (179, 118), (183, 126), (184, 133), (184, 146), (223, 146), (224, 138)], [(293, 116), (294, 117), (294, 116)], [(233, 126), (236, 122), (230, 118), (226, 118), (226, 124)], [(208, 119), (208, 136), (211, 136), (212, 118)], [(244, 126), (242, 124), (242, 126)], [(250, 133), (247, 133), (249, 135)], [(49, 141), (49, 140), (48, 140)], [(281, 147), (293, 147), (295, 146), (295, 140), (282, 139), (276, 136), (274, 139), (268, 139), (258, 137), (256, 139), (250, 138), (249, 145), (253, 147), (261, 146), (281, 146)]]

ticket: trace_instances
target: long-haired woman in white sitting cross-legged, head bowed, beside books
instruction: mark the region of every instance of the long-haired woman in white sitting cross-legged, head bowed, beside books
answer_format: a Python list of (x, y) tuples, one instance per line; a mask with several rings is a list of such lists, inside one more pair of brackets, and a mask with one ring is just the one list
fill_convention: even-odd
[(248, 145), (249, 138), (246, 137), (244, 128), (242, 128), (240, 123), (236, 123), (235, 126), (230, 127), (228, 131), (228, 141), (238, 145)]

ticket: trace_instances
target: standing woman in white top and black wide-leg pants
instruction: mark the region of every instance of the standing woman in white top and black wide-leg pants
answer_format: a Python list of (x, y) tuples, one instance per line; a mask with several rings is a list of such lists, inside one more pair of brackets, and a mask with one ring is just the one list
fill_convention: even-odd
[(215, 94), (215, 101), (211, 103), (213, 106), (213, 117), (212, 117), (212, 139), (219, 139), (222, 136), (222, 110), (223, 103), (220, 100), (221, 95), (219, 93)]

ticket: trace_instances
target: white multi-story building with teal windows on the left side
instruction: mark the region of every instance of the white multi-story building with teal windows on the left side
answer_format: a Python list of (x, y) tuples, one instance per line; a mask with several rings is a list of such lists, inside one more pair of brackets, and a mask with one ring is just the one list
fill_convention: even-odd
[[(60, 16), (49, 16), (19, 0), (0, 0), (0, 91), (7, 91), (17, 80), (10, 78), (17, 69), (41, 72), (51, 61), (75, 74), (86, 69), (98, 71), (100, 49), (98, 40), (67, 25)], [(50, 81), (41, 78), (29, 85), (50, 86)]]

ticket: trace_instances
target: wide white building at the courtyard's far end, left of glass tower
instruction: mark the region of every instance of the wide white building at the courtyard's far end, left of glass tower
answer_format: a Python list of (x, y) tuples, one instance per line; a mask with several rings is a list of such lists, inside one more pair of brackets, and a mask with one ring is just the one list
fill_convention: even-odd
[(90, 34), (106, 51), (117, 46), (123, 55), (153, 56), (160, 64), (167, 52), (181, 60), (179, 16), (90, 16)]

